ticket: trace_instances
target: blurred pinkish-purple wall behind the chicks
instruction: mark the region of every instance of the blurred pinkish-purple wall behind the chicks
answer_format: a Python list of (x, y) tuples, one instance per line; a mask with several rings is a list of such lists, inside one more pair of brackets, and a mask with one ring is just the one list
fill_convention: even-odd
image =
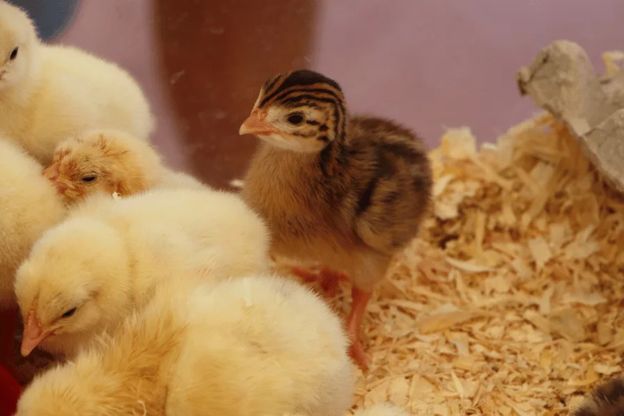
[[(395, 118), (432, 146), (445, 126), (467, 125), (481, 141), (491, 141), (536, 111), (517, 93), (520, 66), (549, 42), (567, 38), (602, 71), (600, 53), (624, 49), (623, 17), (623, 0), (327, 0), (309, 58), (343, 85), (352, 111)], [(184, 168), (187, 152), (154, 39), (149, 0), (84, 0), (60, 41), (116, 61), (137, 77), (159, 119), (155, 143)]]

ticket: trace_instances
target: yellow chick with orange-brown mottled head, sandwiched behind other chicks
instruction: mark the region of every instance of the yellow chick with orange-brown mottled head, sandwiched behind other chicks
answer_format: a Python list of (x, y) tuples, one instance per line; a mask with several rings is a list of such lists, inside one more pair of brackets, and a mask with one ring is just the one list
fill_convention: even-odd
[(156, 186), (205, 188), (197, 179), (163, 166), (150, 143), (113, 129), (65, 139), (56, 146), (43, 175), (70, 201), (93, 193), (134, 195)]

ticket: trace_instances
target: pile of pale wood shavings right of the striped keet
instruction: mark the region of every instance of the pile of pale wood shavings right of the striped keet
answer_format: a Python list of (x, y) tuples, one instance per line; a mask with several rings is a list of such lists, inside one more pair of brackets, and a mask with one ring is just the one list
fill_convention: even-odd
[(435, 214), (370, 302), (354, 407), (566, 415), (622, 371), (624, 202), (547, 114), (430, 155)]

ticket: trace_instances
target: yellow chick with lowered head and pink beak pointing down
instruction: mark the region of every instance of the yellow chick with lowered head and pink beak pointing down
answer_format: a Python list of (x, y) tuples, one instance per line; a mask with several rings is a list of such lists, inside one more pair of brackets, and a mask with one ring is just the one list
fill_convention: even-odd
[(93, 195), (48, 230), (17, 270), (22, 355), (39, 344), (74, 355), (176, 273), (217, 279), (265, 271), (268, 244), (263, 221), (233, 193)]

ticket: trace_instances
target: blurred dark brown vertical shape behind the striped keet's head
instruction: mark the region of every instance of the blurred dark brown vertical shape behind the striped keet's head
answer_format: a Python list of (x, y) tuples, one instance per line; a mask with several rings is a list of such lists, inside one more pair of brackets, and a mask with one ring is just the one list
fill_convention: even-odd
[(307, 67), (313, 0), (155, 0), (164, 83), (194, 173), (213, 186), (240, 178), (256, 139), (239, 136), (262, 83)]

